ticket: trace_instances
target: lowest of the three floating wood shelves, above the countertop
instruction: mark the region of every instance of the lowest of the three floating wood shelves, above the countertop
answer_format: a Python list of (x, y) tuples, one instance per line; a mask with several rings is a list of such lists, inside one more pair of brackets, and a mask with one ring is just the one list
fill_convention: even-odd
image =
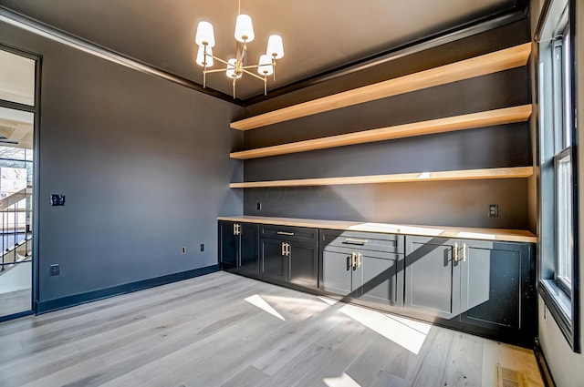
[(448, 170), (440, 172), (401, 173), (395, 175), (351, 176), (344, 178), (299, 178), (295, 180), (248, 181), (231, 183), (230, 188), (310, 187), (347, 184), (405, 183), (420, 181), (479, 180), (487, 178), (528, 178), (533, 167)]

